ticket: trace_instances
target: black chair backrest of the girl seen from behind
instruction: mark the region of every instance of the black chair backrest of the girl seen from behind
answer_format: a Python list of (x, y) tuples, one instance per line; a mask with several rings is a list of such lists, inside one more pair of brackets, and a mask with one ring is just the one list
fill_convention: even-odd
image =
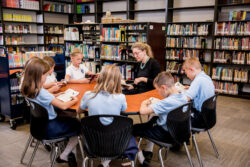
[[(100, 117), (113, 117), (103, 125)], [(123, 155), (132, 137), (133, 120), (117, 115), (95, 115), (81, 120), (84, 150), (88, 157), (115, 159)]]

